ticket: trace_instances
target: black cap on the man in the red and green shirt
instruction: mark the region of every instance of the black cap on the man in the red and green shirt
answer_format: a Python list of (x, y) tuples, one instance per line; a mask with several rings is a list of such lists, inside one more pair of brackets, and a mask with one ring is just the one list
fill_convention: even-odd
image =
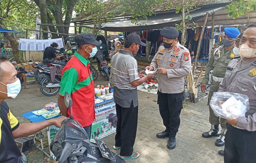
[(95, 40), (94, 35), (91, 33), (76, 35), (75, 41), (78, 44), (78, 46), (88, 44), (88, 43), (93, 45), (101, 45), (100, 42)]

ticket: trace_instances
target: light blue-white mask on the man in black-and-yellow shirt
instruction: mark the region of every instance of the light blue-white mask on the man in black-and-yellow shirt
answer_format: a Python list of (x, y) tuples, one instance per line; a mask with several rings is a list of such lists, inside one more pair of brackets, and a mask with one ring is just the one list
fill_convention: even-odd
[[(2, 83), (2, 82), (0, 82), (0, 83)], [(2, 83), (2, 84), (4, 84), (4, 83)], [(21, 88), (19, 79), (16, 80), (16, 82), (14, 82), (14, 83), (6, 84), (5, 86), (7, 87), (7, 93), (0, 91), (1, 93), (7, 94), (7, 97), (11, 97), (11, 98), (16, 98), (16, 96), (18, 96), (18, 94), (20, 92), (20, 88)]]

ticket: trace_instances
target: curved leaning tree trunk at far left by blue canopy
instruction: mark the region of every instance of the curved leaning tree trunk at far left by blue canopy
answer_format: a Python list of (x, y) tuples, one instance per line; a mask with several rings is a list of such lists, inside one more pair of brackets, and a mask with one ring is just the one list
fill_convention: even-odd
[[(0, 24), (0, 28), (2, 29), (7, 29), (5, 27), (5, 25)], [(15, 58), (15, 61), (17, 63), (22, 63), (23, 58), (20, 57), (19, 55), (19, 42), (17, 40), (17, 38), (14, 36), (13, 33), (3, 33), (3, 35), (8, 39), (8, 41), (10, 42), (11, 46), (12, 46), (12, 56)]]

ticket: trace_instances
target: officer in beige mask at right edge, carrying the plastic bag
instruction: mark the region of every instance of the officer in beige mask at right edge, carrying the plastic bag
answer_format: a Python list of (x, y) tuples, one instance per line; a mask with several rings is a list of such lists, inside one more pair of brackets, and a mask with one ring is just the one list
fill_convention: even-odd
[(227, 120), (224, 162), (256, 163), (256, 24), (245, 30), (239, 49), (241, 58), (227, 65), (218, 92), (247, 95), (250, 109), (245, 117)]

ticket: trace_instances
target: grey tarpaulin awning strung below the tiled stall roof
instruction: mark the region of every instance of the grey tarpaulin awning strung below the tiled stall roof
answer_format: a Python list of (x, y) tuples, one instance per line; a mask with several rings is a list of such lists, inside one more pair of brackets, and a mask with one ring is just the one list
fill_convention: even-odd
[[(206, 12), (212, 13), (225, 8), (225, 4), (219, 4), (208, 7), (201, 7), (195, 11), (190, 12), (193, 21), (201, 19)], [(141, 30), (153, 30), (161, 29), (166, 26), (174, 26), (181, 21), (180, 14), (175, 12), (161, 13), (153, 16), (149, 16), (148, 20), (139, 20), (138, 24), (131, 23), (131, 19), (118, 20), (108, 23), (103, 23), (101, 30), (105, 31), (141, 31)], [(82, 25), (82, 27), (93, 28), (93, 25)]]

